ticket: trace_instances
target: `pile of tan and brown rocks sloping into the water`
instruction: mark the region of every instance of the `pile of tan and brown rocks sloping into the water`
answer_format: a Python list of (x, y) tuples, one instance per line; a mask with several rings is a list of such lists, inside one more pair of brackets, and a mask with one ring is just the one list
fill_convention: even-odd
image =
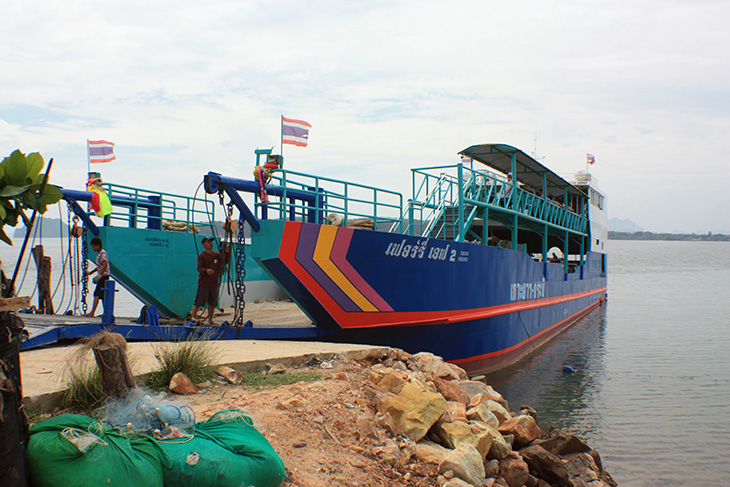
[(365, 392), (393, 436), (372, 452), (381, 462), (436, 464), (442, 487), (616, 485), (580, 438), (543, 435), (534, 410), (510, 412), (497, 391), (460, 367), (427, 352), (377, 358)]

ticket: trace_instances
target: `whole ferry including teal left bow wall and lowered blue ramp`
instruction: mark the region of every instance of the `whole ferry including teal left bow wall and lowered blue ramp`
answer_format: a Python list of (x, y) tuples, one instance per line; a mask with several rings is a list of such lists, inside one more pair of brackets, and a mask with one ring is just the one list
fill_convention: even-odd
[[(268, 149), (255, 154), (257, 170), (280, 160)], [(456, 164), (412, 169), (408, 199), (283, 168), (252, 180), (210, 172), (204, 188), (211, 199), (105, 183), (114, 212), (97, 226), (79, 205), (91, 194), (62, 191), (113, 256), (112, 277), (163, 316), (184, 317), (190, 309), (193, 263), (202, 238), (215, 233), (213, 222), (238, 219), (240, 228), (228, 225), (233, 262), (222, 305), (288, 296), (312, 322), (207, 330), (117, 325), (128, 339), (206, 333), (366, 343), (430, 351), (471, 374), (486, 373), (519, 360), (606, 299), (606, 199), (587, 172), (568, 182), (509, 145), (475, 145), (458, 155)], [(254, 198), (247, 203), (240, 193)], [(48, 339), (26, 345), (43, 343)]]

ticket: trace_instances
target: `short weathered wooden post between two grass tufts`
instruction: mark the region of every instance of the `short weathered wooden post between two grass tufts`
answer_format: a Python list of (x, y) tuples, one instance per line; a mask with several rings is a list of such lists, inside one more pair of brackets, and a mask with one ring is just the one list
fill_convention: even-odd
[(127, 361), (127, 341), (119, 333), (101, 332), (88, 344), (99, 366), (101, 390), (109, 397), (126, 397), (137, 387)]

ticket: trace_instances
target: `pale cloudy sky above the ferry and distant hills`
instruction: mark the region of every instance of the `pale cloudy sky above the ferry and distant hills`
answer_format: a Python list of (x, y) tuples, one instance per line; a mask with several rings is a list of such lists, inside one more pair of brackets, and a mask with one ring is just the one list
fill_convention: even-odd
[(412, 167), (505, 143), (609, 218), (730, 233), (730, 1), (0, 0), (0, 155), (53, 157), (82, 189), (193, 195), (250, 179), (280, 117), (312, 124), (287, 169), (401, 191)]

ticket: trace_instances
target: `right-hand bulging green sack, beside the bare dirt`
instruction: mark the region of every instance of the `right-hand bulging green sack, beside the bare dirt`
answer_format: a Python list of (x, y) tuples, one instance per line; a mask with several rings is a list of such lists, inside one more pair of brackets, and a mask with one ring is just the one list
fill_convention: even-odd
[(166, 487), (276, 487), (284, 462), (243, 411), (224, 410), (188, 430), (192, 438), (159, 441), (170, 459)]

